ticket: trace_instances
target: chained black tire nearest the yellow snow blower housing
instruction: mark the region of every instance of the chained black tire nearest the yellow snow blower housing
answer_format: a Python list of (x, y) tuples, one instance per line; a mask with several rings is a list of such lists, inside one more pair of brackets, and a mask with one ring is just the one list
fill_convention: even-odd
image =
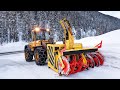
[(43, 47), (37, 47), (34, 51), (34, 58), (37, 65), (45, 65), (47, 52)]

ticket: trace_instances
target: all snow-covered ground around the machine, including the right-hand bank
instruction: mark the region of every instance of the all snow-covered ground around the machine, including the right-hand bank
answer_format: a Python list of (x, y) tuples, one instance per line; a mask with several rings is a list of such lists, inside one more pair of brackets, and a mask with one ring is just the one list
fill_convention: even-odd
[[(76, 73), (74, 75), (59, 76), (56, 72), (48, 69), (47, 66), (37, 66), (35, 62), (26, 62), (24, 54), (13, 54), (0, 56), (0, 78), (12, 79), (120, 79), (120, 30), (115, 30), (96, 37), (87, 37), (76, 40), (83, 43), (84, 47), (93, 47), (101, 40), (103, 46), (100, 52), (105, 57), (103, 66), (91, 68), (90, 70)], [(26, 43), (0, 46), (0, 50), (23, 50)], [(18, 46), (17, 46), (18, 45)]]

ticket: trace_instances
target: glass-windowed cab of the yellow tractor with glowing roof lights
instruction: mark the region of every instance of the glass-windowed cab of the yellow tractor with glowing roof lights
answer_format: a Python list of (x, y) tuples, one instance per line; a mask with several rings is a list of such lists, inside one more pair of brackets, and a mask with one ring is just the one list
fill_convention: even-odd
[(50, 38), (50, 30), (36, 27), (32, 30), (32, 41), (37, 40), (49, 40)]

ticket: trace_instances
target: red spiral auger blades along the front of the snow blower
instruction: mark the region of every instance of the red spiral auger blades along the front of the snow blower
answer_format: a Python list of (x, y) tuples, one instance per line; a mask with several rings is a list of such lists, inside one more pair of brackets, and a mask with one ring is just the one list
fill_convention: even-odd
[(74, 54), (74, 55), (66, 55), (62, 56), (62, 62), (64, 64), (64, 68), (61, 69), (61, 74), (63, 75), (70, 75), (77, 72), (81, 72), (84, 70), (88, 70), (89, 67), (94, 68), (94, 66), (102, 65), (104, 62), (103, 56), (97, 52), (87, 53), (85, 55), (87, 60), (87, 64), (84, 64), (83, 60), (84, 57), (82, 54)]

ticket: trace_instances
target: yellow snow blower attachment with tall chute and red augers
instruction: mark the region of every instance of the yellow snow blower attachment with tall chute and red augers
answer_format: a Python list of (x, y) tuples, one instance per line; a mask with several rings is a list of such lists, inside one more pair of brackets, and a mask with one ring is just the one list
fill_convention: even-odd
[(100, 66), (104, 63), (104, 57), (98, 51), (100, 44), (93, 48), (83, 48), (81, 43), (74, 43), (74, 37), (70, 23), (66, 19), (60, 21), (64, 29), (63, 44), (47, 44), (48, 67), (59, 75), (70, 75), (89, 67)]

